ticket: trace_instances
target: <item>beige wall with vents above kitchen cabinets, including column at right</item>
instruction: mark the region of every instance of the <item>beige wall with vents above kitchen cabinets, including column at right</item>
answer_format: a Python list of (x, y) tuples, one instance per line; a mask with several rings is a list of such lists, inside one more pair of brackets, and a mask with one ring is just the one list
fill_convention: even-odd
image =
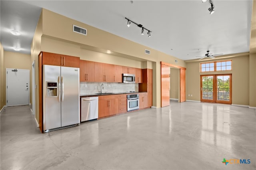
[[(160, 61), (186, 67), (186, 63), (181, 59), (50, 12), (49, 10), (42, 10), (42, 23), (42, 51), (73, 55), (81, 57), (82, 59), (90, 57), (86, 55), (92, 53), (92, 56), (97, 56), (95, 60), (99, 59), (98, 61), (109, 62), (104, 58), (106, 55), (90, 51), (104, 53), (104, 51), (110, 50), (114, 54), (118, 54), (116, 56), (121, 57), (118, 59), (119, 61), (125, 60), (124, 58), (128, 58), (129, 56), (130, 59), (133, 60), (131, 62), (121, 62), (122, 65), (127, 64), (131, 67), (140, 68), (142, 67), (141, 62), (137, 60), (155, 63), (155, 67), (154, 64), (152, 64), (153, 81), (156, 81), (156, 83), (153, 83), (153, 106), (155, 107), (160, 107), (161, 104)], [(73, 24), (86, 28), (88, 35), (83, 36), (73, 32)], [(145, 49), (150, 50), (151, 54), (145, 54)], [(94, 57), (90, 57), (90, 60), (94, 61)], [(118, 60), (115, 60), (116, 64), (119, 63)], [(175, 60), (178, 60), (178, 63), (176, 63)]]

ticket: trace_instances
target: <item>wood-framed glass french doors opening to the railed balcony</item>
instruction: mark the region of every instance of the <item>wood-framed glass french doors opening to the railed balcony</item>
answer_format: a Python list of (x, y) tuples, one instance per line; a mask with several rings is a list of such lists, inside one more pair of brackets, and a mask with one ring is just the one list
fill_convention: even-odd
[(201, 75), (201, 101), (232, 103), (232, 74)]

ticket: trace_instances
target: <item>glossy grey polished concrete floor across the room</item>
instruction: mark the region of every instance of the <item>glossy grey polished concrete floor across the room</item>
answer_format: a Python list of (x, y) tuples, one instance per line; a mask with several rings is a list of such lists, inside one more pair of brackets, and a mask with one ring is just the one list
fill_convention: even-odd
[(45, 134), (30, 106), (0, 119), (1, 170), (256, 169), (256, 110), (245, 107), (171, 101)]

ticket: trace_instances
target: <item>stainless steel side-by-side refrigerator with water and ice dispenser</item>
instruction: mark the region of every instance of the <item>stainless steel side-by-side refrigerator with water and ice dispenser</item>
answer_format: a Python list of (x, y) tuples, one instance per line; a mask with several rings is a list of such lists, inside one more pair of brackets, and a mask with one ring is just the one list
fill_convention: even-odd
[(44, 132), (80, 123), (79, 68), (43, 65)]

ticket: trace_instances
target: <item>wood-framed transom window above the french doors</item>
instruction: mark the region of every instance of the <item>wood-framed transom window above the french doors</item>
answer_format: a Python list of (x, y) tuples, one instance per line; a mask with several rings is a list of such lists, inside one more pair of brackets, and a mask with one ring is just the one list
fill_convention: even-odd
[(232, 60), (200, 63), (200, 72), (232, 70)]

